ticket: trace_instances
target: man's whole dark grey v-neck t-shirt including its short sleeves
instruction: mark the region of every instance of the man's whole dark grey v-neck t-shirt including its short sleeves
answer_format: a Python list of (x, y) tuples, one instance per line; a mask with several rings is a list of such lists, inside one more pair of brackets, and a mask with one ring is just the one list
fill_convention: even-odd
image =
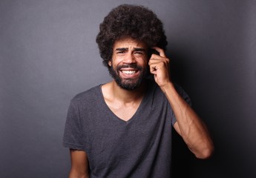
[[(98, 85), (70, 102), (63, 145), (86, 151), (91, 177), (171, 177), (171, 129), (176, 119), (154, 83), (128, 122), (106, 105)], [(177, 86), (181, 96), (187, 94)]]

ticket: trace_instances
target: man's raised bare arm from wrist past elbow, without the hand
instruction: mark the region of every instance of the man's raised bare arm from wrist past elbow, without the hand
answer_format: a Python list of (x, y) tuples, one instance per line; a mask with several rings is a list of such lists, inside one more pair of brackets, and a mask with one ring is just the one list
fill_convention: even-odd
[(188, 148), (197, 158), (205, 159), (211, 156), (213, 143), (206, 125), (177, 93), (171, 83), (165, 85), (162, 90), (170, 102), (177, 119), (174, 128), (183, 137)]

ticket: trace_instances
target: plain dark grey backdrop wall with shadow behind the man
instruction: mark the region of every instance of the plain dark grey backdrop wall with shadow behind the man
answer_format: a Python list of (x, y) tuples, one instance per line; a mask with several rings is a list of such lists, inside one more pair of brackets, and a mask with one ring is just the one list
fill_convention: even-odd
[(68, 105), (111, 79), (95, 37), (122, 3), (143, 4), (163, 20), (172, 76), (214, 138), (214, 156), (199, 160), (174, 136), (174, 177), (256, 177), (256, 1), (249, 0), (1, 0), (0, 177), (68, 177)]

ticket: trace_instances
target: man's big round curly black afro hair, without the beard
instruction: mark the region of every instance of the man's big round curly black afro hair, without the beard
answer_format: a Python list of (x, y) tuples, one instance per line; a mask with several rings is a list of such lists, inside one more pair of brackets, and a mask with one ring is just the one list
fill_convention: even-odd
[(145, 42), (148, 47), (157, 46), (166, 50), (167, 46), (163, 23), (153, 11), (140, 5), (119, 5), (99, 25), (96, 43), (103, 65), (109, 67), (108, 61), (112, 57), (114, 42), (122, 37)]

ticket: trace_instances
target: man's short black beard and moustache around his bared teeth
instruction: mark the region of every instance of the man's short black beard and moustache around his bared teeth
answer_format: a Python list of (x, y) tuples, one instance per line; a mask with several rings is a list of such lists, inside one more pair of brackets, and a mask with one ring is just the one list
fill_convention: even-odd
[[(140, 71), (140, 76), (137, 79), (122, 79), (119, 75), (122, 67), (132, 67)], [(114, 81), (120, 88), (125, 90), (135, 90), (140, 87), (144, 79), (148, 76), (148, 68), (145, 69), (142, 66), (138, 65), (118, 65), (116, 70), (114, 70), (113, 65), (108, 68), (110, 75), (113, 77)]]

